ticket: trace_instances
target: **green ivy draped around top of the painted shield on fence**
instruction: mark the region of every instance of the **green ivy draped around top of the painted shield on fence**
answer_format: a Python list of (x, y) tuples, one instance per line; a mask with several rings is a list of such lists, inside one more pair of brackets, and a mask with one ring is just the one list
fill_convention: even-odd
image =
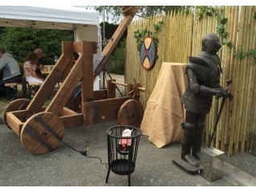
[(134, 38), (137, 43), (137, 50), (140, 51), (140, 48), (142, 47), (143, 39), (146, 37), (152, 37), (155, 39), (155, 47), (158, 47), (159, 39), (155, 38), (155, 33), (158, 31), (161, 31), (163, 28), (163, 21), (159, 21), (156, 24), (153, 25), (155, 31), (149, 31), (147, 27), (143, 29), (142, 31), (134, 31)]

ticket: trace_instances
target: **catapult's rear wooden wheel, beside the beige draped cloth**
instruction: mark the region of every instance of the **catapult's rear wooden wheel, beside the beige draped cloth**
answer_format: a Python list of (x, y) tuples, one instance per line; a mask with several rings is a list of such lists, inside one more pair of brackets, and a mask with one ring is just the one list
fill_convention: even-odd
[(120, 125), (131, 125), (138, 127), (143, 118), (144, 108), (138, 100), (126, 100), (118, 111), (118, 122)]

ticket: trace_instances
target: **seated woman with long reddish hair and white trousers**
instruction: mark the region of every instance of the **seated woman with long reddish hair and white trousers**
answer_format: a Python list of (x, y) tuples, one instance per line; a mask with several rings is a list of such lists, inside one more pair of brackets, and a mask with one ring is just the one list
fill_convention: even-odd
[(38, 63), (38, 60), (39, 58), (34, 52), (29, 53), (25, 59), (23, 70), (24, 70), (24, 77), (26, 78), (26, 81), (28, 83), (35, 82), (35, 83), (43, 84), (43, 79), (37, 76), (35, 72), (36, 64)]

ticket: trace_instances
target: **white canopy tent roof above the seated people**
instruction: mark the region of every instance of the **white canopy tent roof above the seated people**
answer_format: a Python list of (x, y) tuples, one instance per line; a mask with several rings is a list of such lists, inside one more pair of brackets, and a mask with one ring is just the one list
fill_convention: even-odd
[[(75, 6), (0, 6), (0, 26), (72, 30), (76, 42), (101, 42), (99, 12)], [(94, 89), (99, 89), (96, 81)]]

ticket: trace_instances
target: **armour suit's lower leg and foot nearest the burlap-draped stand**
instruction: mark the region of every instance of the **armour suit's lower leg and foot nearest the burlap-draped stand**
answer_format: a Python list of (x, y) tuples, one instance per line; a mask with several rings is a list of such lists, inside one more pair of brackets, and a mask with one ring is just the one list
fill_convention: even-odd
[(194, 131), (195, 131), (196, 125), (188, 124), (185, 122), (185, 123), (182, 123), (181, 126), (182, 126), (182, 129), (184, 129), (181, 159), (183, 159), (184, 161), (188, 162), (193, 166), (198, 167), (199, 161), (190, 155), (193, 139), (195, 137)]

